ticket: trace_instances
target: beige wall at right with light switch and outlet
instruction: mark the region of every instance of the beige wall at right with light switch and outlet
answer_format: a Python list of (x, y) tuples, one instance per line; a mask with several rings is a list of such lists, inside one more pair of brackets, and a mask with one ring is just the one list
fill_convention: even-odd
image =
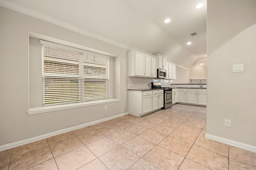
[(207, 8), (207, 134), (256, 147), (256, 1), (208, 0)]

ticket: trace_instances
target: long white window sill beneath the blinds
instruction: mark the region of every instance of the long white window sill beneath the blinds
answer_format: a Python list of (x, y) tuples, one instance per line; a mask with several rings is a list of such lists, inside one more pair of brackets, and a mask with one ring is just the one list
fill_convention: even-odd
[(81, 102), (81, 103), (72, 103), (72, 104), (62, 104), (57, 106), (44, 106), (44, 107), (31, 107), (28, 109), (28, 115), (34, 115), (38, 113), (45, 113), (50, 111), (59, 111), (65, 109), (74, 109), (78, 107), (87, 107), (87, 106), (95, 106), (100, 104), (108, 104), (114, 102), (120, 102), (121, 99), (108, 99), (108, 100), (97, 100), (97, 101), (90, 101), (90, 102)]

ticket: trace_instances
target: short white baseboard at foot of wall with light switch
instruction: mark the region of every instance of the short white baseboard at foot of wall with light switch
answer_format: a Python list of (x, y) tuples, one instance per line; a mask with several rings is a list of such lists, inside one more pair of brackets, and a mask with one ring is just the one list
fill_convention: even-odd
[(217, 137), (217, 136), (214, 136), (214, 135), (208, 135), (207, 133), (206, 133), (205, 137), (207, 139), (211, 139), (211, 140), (214, 140), (214, 141), (225, 143), (225, 144), (231, 145), (233, 147), (238, 147), (238, 148), (241, 148), (241, 149), (249, 150), (251, 152), (256, 152), (256, 147), (254, 147), (252, 145), (247, 145), (247, 144), (244, 144), (244, 143), (232, 141), (232, 140)]

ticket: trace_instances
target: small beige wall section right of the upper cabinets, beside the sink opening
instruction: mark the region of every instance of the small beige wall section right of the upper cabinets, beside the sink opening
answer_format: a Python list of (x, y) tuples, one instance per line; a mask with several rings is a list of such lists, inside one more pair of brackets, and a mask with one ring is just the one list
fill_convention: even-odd
[(176, 80), (172, 80), (172, 84), (188, 84), (189, 70), (176, 66)]

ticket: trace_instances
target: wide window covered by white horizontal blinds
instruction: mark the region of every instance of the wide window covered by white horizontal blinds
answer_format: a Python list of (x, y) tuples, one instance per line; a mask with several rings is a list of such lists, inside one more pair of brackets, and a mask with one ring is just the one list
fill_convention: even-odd
[(40, 42), (43, 106), (109, 99), (108, 56)]

